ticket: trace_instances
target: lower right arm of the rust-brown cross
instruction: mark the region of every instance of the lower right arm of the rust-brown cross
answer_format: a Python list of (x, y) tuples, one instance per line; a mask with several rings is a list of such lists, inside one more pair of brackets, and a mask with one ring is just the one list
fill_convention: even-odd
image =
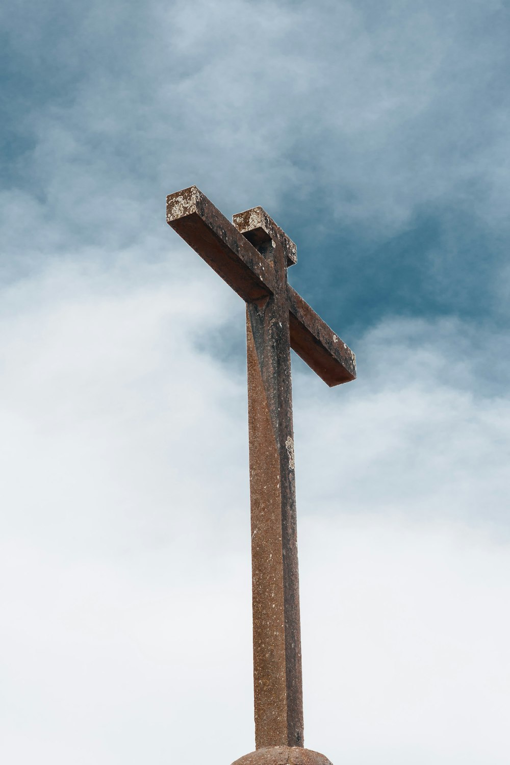
[(356, 379), (356, 356), (313, 308), (287, 285), (291, 348), (330, 388)]

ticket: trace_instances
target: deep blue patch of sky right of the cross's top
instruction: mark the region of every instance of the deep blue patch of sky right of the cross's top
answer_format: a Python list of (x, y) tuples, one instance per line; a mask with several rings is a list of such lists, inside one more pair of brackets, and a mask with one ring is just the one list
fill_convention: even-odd
[(292, 223), (300, 248), (289, 278), (317, 311), (349, 331), (388, 316), (508, 321), (494, 301), (502, 243), (476, 220), (455, 210), (417, 213), (405, 230), (377, 242), (333, 220), (330, 227), (317, 236), (313, 222)]

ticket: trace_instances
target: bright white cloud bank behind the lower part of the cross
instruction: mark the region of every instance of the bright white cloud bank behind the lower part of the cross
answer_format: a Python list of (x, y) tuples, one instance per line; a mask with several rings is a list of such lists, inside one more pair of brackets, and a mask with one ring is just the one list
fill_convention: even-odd
[[(243, 307), (190, 268), (184, 282), (133, 251), (2, 295), (4, 750), (19, 765), (252, 747), (245, 379), (204, 350), (242, 334)], [(333, 763), (510, 754), (508, 402), (476, 389), (463, 333), (383, 325), (339, 389), (296, 367), (305, 734)]]

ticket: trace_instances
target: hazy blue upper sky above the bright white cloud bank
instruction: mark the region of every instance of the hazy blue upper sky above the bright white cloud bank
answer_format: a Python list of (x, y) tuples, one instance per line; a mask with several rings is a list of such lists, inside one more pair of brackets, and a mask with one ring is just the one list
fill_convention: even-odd
[(4, 278), (147, 238), (166, 257), (164, 196), (195, 183), (268, 210), (348, 337), (506, 326), (508, 4), (198, 6), (4, 7)]

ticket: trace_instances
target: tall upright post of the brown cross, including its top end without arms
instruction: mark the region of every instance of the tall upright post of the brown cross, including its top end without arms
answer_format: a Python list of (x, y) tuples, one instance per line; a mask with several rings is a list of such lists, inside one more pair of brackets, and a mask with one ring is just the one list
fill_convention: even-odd
[(274, 267), (274, 293), (246, 305), (255, 746), (303, 747), (287, 304), (287, 265), (296, 248), (261, 207), (233, 222)]

